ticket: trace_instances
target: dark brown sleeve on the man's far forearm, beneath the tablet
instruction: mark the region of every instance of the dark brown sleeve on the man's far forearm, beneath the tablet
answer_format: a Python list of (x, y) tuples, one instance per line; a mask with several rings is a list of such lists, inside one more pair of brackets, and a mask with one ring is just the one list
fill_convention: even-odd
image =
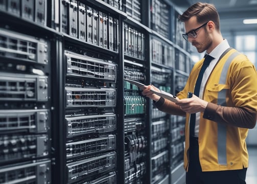
[(154, 103), (154, 106), (157, 107), (159, 110), (169, 114), (185, 116), (185, 112), (181, 110), (178, 105), (162, 97)]

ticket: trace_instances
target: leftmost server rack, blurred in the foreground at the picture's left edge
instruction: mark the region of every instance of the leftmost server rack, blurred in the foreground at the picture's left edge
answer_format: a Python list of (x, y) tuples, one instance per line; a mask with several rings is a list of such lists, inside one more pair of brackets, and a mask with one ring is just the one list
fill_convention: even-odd
[(52, 181), (52, 73), (58, 34), (45, 28), (46, 5), (1, 2), (1, 183)]

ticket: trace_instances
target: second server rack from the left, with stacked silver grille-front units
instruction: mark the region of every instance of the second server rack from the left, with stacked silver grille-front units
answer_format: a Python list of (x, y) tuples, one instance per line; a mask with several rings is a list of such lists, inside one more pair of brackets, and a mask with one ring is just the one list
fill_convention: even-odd
[(67, 173), (63, 183), (116, 183), (119, 15), (94, 2), (60, 5), (65, 71), (62, 162)]

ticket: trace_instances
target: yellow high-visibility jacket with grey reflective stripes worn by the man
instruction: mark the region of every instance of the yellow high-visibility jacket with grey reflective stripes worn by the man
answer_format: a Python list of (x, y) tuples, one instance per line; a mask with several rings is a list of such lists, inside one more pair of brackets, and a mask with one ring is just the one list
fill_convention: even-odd
[[(245, 55), (239, 54), (231, 60), (231, 63), (225, 70), (223, 69), (226, 60), (235, 52), (237, 52), (235, 49), (230, 50), (216, 64), (206, 82), (203, 91), (203, 100), (213, 104), (219, 104), (219, 98), (222, 96), (220, 93), (226, 89), (225, 93), (223, 93), (225, 99), (223, 99), (224, 102), (221, 106), (242, 107), (256, 114), (257, 74), (254, 65)], [(203, 59), (197, 62), (193, 67), (184, 89), (177, 94), (179, 99), (187, 98), (188, 91), (194, 91), (194, 86), (202, 63)], [(225, 83), (220, 83), (222, 78), (224, 78), (223, 80)], [(208, 103), (208, 105), (211, 105), (211, 103)], [(220, 114), (222, 114), (221, 111), (223, 110), (221, 106), (219, 106)], [(207, 108), (205, 111), (207, 111)], [(212, 120), (216, 119), (216, 112), (205, 111), (201, 112), (200, 115), (198, 138), (199, 159), (202, 171), (237, 170), (247, 168), (248, 152), (245, 140), (248, 134), (248, 128), (253, 128), (255, 124), (253, 127), (247, 128), (244, 126), (241, 126), (244, 128), (240, 128), (236, 124), (233, 126), (233, 123), (231, 122), (237, 121), (233, 119), (233, 117), (231, 117), (231, 122), (215, 122)], [(186, 170), (188, 169), (189, 164), (189, 118), (190, 114), (187, 113), (184, 149), (184, 168)], [(227, 117), (224, 117), (224, 119), (227, 120)]]

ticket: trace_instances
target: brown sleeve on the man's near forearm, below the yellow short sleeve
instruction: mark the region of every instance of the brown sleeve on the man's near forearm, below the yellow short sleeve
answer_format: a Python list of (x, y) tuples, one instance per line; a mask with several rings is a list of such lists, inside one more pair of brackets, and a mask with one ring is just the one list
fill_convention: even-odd
[(256, 115), (256, 110), (243, 107), (224, 107), (208, 103), (203, 113), (203, 118), (224, 125), (254, 128), (257, 119)]

